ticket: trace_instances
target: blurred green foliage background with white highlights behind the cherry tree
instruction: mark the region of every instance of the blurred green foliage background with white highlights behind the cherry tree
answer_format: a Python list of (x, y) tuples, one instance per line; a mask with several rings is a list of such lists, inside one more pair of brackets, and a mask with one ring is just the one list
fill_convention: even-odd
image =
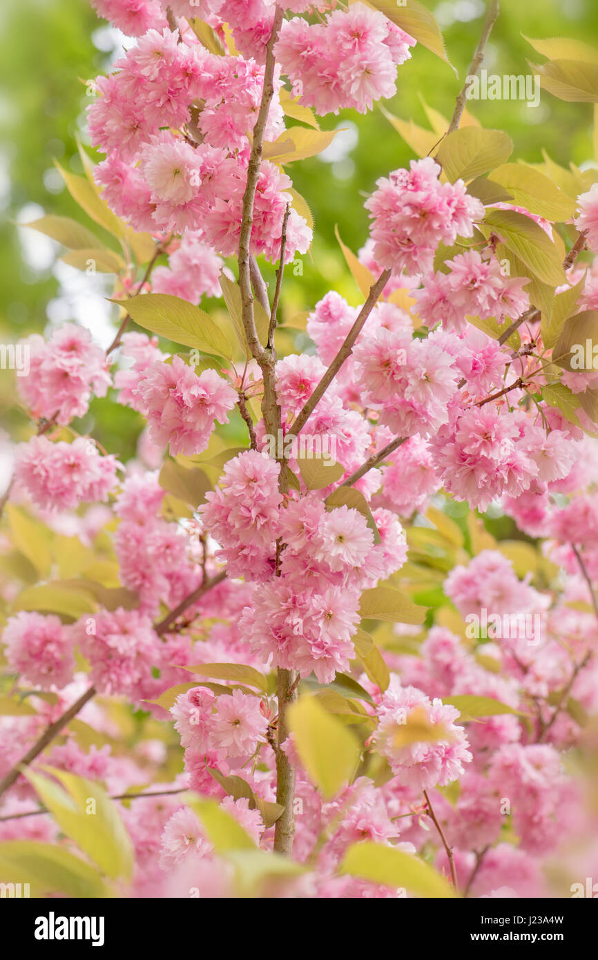
[[(424, 48), (399, 67), (398, 93), (384, 106), (395, 115), (428, 127), (422, 100), (450, 116), (480, 35), (483, 0), (427, 0), (443, 29), (450, 67)], [(531, 73), (527, 59), (541, 60), (524, 36), (572, 36), (598, 45), (596, 0), (502, 0), (485, 66), (490, 73)], [(63, 189), (53, 158), (81, 173), (75, 135), (84, 131), (84, 80), (109, 68), (122, 53), (122, 35), (98, 19), (87, 0), (20, 0), (0, 11), (0, 335), (12, 340), (42, 331), (48, 320), (77, 320), (102, 333), (107, 342), (106, 278), (78, 274), (58, 262), (58, 245), (15, 222), (43, 213), (79, 218), (84, 213)], [(131, 42), (131, 41), (127, 41)], [(537, 109), (522, 101), (472, 101), (468, 108), (486, 127), (507, 130), (514, 139), (513, 158), (541, 161), (541, 148), (566, 165), (591, 161), (591, 105), (568, 104), (542, 91)], [(283, 309), (287, 316), (309, 309), (333, 286), (352, 302), (358, 292), (347, 273), (334, 237), (338, 224), (354, 251), (367, 238), (363, 201), (374, 181), (404, 166), (413, 154), (380, 109), (365, 116), (346, 111), (323, 119), (323, 128), (348, 127), (326, 158), (289, 168), (294, 185), (310, 204), (316, 220), (311, 255), (303, 258), (303, 276), (288, 272)], [(108, 408), (111, 418), (108, 422)], [(92, 411), (108, 448), (128, 455), (136, 433), (136, 415), (123, 411), (119, 422), (113, 404), (94, 401)], [(118, 415), (120, 416), (120, 414)], [(116, 446), (113, 441), (120, 434)]]

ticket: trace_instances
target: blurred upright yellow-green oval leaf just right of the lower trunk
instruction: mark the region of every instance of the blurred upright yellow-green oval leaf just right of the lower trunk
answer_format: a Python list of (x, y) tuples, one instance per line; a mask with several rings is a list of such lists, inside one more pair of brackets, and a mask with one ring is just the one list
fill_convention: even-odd
[(310, 780), (331, 800), (357, 769), (357, 740), (314, 697), (301, 697), (289, 708), (289, 727)]

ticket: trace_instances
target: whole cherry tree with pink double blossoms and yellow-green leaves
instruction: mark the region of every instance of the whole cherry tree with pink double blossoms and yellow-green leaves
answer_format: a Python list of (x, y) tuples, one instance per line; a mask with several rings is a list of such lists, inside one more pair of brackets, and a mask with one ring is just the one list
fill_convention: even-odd
[[(119, 326), (108, 349), (71, 323), (20, 345), (6, 879), (569, 896), (598, 865), (596, 169), (513, 162), (467, 84), (433, 130), (387, 111), (415, 157), (375, 183), (363, 248), (340, 242), (361, 303), (294, 316), (315, 229), (294, 164), (331, 143), (319, 118), (408, 84), (418, 44), (447, 60), (434, 17), (93, 5), (131, 42), (87, 84), (104, 158), (62, 176), (113, 243), (29, 226), (114, 276)], [(549, 94), (598, 99), (590, 48), (530, 42)], [(143, 423), (126, 463), (78, 429), (107, 396)]]

